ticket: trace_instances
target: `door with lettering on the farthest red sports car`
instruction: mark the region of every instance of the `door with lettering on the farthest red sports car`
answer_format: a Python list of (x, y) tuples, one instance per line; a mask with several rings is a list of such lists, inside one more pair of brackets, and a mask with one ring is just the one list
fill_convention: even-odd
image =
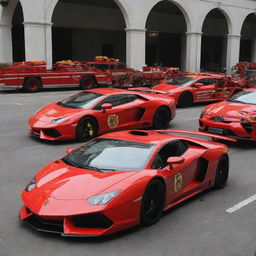
[(216, 81), (212, 78), (202, 78), (195, 82), (201, 84), (194, 86), (195, 102), (211, 101), (215, 99)]

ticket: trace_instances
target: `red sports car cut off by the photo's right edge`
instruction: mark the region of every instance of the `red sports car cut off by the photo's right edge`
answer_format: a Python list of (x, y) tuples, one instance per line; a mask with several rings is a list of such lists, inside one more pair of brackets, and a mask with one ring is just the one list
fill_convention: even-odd
[(256, 141), (256, 88), (205, 107), (199, 119), (199, 130)]

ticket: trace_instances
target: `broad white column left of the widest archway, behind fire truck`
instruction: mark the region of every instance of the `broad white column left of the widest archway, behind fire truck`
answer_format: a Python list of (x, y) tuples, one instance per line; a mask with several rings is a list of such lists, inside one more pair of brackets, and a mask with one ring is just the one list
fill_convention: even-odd
[(46, 61), (52, 66), (52, 23), (25, 21), (26, 61)]

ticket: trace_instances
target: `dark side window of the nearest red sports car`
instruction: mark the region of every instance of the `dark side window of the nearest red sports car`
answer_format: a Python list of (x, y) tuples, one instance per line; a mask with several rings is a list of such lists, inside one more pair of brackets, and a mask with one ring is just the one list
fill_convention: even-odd
[(188, 149), (184, 141), (176, 140), (163, 146), (156, 155), (151, 168), (163, 169), (168, 165), (167, 159), (171, 156), (182, 156)]

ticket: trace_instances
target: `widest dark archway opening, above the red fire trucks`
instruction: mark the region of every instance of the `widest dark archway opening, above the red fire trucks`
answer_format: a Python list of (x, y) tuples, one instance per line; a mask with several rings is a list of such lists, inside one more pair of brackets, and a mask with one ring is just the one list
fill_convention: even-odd
[(59, 0), (52, 22), (54, 62), (98, 55), (125, 61), (125, 20), (114, 0)]

